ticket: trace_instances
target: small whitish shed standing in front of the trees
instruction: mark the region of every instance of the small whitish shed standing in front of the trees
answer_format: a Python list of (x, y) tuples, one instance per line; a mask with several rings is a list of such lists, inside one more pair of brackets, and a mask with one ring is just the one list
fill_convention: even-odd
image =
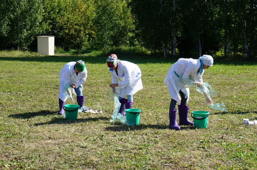
[(54, 37), (55, 36), (37, 36), (38, 53), (42, 55), (54, 55)]

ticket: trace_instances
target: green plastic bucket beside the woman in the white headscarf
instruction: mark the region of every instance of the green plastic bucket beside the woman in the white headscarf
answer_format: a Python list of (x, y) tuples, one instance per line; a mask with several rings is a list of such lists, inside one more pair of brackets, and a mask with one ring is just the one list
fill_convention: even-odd
[(194, 111), (191, 113), (196, 128), (207, 128), (208, 116), (209, 112), (206, 111)]

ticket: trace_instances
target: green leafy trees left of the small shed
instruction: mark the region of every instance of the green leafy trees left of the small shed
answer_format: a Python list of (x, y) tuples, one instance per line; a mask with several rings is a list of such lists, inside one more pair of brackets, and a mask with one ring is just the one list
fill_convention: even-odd
[(3, 14), (0, 21), (0, 48), (26, 49), (42, 32), (39, 24), (44, 12), (41, 0), (4, 0), (0, 11)]

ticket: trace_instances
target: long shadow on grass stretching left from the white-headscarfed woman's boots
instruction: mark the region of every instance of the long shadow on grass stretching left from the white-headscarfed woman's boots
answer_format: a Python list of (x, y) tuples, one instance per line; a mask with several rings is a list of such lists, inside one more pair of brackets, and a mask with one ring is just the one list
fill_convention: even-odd
[[(111, 126), (105, 128), (105, 130), (110, 130), (110, 131), (133, 131), (133, 130), (142, 130), (142, 129), (169, 129), (168, 125), (144, 125), (144, 124), (139, 124), (135, 126), (127, 126), (124, 124), (120, 124), (118, 126)], [(196, 129), (194, 126), (180, 126), (180, 130), (191, 130), (191, 129)], [(175, 130), (172, 130), (175, 131)]]

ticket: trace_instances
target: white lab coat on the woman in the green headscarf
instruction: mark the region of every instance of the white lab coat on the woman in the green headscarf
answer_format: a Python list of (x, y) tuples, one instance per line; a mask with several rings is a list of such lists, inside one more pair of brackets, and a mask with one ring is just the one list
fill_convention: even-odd
[[(70, 84), (75, 84), (76, 88), (78, 88), (80, 85), (81, 85), (81, 88), (83, 88), (82, 84), (86, 81), (86, 78), (87, 78), (86, 68), (82, 72), (78, 73), (78, 75), (76, 75), (76, 71), (74, 69), (75, 64), (76, 62), (68, 62), (62, 67), (60, 71), (59, 98), (64, 102), (67, 100), (67, 96), (64, 94), (65, 85), (67, 83), (70, 83)], [(74, 89), (73, 89), (73, 93), (75, 93)]]

